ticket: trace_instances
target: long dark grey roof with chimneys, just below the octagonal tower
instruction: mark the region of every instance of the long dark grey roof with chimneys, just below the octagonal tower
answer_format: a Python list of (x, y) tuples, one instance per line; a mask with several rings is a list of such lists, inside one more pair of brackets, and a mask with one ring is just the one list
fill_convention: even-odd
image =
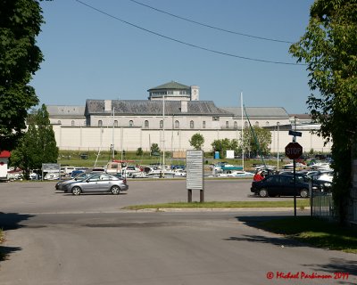
[[(114, 114), (120, 115), (162, 115), (162, 101), (147, 100), (112, 100)], [(104, 100), (90, 100), (86, 102), (86, 115), (112, 113), (104, 111)], [(166, 115), (209, 115), (231, 116), (226, 110), (218, 108), (212, 101), (187, 101), (187, 112), (181, 112), (180, 101), (165, 101)]]

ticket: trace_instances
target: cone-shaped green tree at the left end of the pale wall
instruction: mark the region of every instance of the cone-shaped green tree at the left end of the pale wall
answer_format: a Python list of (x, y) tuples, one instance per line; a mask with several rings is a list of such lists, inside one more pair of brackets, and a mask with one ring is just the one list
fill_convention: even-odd
[(58, 158), (58, 147), (54, 130), (50, 124), (46, 106), (34, 110), (29, 115), (29, 128), (21, 137), (18, 147), (12, 151), (13, 166), (25, 169), (29, 175), (30, 169), (42, 167), (42, 163), (55, 163)]

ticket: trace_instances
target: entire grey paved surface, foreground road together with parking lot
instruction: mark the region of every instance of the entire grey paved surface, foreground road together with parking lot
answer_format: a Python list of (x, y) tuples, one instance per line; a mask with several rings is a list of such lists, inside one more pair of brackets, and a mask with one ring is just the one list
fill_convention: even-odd
[[(132, 202), (186, 200), (182, 182), (165, 181), (157, 189), (155, 183), (132, 182), (129, 193), (119, 197), (73, 197), (55, 192), (54, 183), (0, 184), (0, 226), (6, 234), (2, 249), (8, 253), (8, 259), (0, 263), (0, 284), (357, 282), (357, 256), (310, 248), (250, 226), (271, 218), (267, 216), (291, 215), (291, 211), (120, 210)], [(175, 183), (183, 193), (176, 192)], [(237, 188), (237, 183), (215, 182), (213, 187), (207, 185), (206, 199), (237, 197)], [(242, 196), (252, 199), (246, 191)], [(341, 272), (349, 273), (348, 279), (344, 275), (343, 280)], [(298, 278), (282, 278), (289, 273)], [(302, 279), (303, 275), (320, 277)], [(322, 275), (332, 279), (322, 279)]]

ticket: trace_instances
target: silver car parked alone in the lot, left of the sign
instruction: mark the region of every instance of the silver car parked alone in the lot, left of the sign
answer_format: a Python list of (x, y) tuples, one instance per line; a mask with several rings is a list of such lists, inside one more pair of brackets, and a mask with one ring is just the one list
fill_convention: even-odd
[(89, 177), (62, 185), (65, 192), (71, 192), (73, 195), (81, 193), (111, 192), (118, 195), (120, 191), (128, 191), (129, 185), (126, 179), (114, 175), (90, 175)]

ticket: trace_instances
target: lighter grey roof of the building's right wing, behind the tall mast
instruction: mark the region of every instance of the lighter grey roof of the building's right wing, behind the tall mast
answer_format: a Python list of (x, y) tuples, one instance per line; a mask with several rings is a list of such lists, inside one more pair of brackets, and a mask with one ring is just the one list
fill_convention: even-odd
[[(236, 117), (242, 116), (241, 107), (220, 107), (220, 109), (233, 113)], [(252, 118), (290, 118), (283, 107), (245, 107), (244, 117), (246, 117), (245, 111), (248, 117)]]

